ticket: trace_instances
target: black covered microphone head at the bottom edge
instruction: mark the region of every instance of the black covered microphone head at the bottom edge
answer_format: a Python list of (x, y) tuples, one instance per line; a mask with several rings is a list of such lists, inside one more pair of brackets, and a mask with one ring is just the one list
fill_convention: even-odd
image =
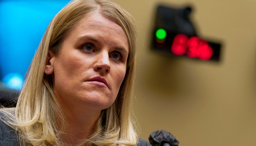
[(152, 146), (178, 146), (179, 141), (165, 130), (157, 130), (150, 134), (148, 138)]

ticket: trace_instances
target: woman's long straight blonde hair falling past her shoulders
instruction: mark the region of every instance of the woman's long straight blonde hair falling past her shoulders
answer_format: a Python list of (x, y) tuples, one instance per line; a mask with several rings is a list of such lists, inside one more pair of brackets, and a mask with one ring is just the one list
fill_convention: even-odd
[[(132, 16), (106, 0), (74, 0), (54, 16), (31, 62), (16, 108), (3, 108), (4, 120), (19, 135), (20, 145), (64, 145), (65, 114), (52, 89), (52, 77), (44, 74), (48, 51), (57, 54), (63, 38), (87, 14), (99, 12), (119, 24), (129, 44), (127, 70), (114, 103), (102, 110), (94, 133), (79, 145), (135, 146), (138, 138), (131, 120), (130, 105), (135, 78), (136, 31)], [(61, 125), (61, 126), (59, 126)]]

